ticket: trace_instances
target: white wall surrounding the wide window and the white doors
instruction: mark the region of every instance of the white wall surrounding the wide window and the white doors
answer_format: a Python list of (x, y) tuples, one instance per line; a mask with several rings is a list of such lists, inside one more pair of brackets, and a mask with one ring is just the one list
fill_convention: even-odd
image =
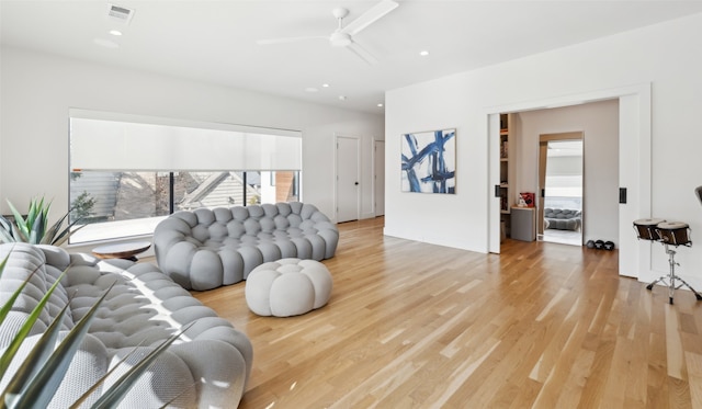
[[(333, 217), (335, 133), (361, 138), (361, 214), (373, 216), (373, 138), (384, 118), (244, 90), (3, 47), (0, 66), (0, 211), (9, 198), (54, 198), (68, 209), (68, 110), (107, 111), (303, 132), (303, 200)], [(138, 149), (137, 146), (134, 147)], [(104, 149), (110, 149), (105, 146)]]

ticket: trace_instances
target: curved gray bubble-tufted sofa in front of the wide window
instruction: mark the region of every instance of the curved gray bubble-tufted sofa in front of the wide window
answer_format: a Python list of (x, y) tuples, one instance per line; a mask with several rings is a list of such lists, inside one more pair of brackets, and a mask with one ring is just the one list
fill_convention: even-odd
[(196, 291), (238, 283), (269, 261), (330, 259), (338, 242), (337, 226), (299, 202), (181, 211), (154, 231), (160, 269)]

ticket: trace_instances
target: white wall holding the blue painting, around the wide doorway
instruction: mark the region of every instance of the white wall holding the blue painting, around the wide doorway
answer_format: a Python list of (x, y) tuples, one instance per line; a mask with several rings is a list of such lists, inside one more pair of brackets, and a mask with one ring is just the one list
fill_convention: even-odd
[[(692, 52), (698, 49), (702, 14), (387, 92), (385, 232), (487, 251), (485, 112), (650, 82), (652, 213), (690, 224), (694, 240), (695, 232), (702, 235), (702, 207), (693, 195), (702, 184), (702, 139), (693, 121), (702, 112), (702, 58)], [(456, 195), (400, 193), (399, 136), (444, 127), (457, 132)], [(663, 250), (652, 254), (654, 270), (665, 272)], [(683, 275), (702, 271), (701, 250), (681, 249), (678, 259)], [(693, 275), (691, 281), (702, 283)]]

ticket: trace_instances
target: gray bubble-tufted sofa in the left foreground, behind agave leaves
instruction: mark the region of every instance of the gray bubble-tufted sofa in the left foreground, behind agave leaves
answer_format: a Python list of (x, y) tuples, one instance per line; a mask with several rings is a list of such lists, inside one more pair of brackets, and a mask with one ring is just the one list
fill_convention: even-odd
[[(57, 247), (24, 243), (16, 243), (14, 248), (1, 245), (0, 260), (8, 252), (11, 252), (10, 259), (0, 279), (2, 304), (34, 270), (36, 273), (0, 326), (2, 349), (67, 269), (67, 275), (34, 325), (32, 336), (24, 341), (20, 356), (26, 356), (66, 304), (69, 308), (63, 329), (68, 331), (116, 281), (100, 306), (50, 407), (69, 407), (135, 346), (139, 345), (139, 353), (146, 354), (191, 322), (193, 326), (157, 357), (120, 407), (158, 408), (173, 398), (177, 399), (169, 407), (233, 408), (239, 404), (251, 372), (249, 339), (155, 265), (126, 260), (99, 261), (88, 254), (69, 254)], [(134, 363), (139, 353), (128, 362)], [(10, 372), (16, 371), (18, 359), (12, 365)], [(122, 367), (110, 375), (106, 387), (121, 376)], [(102, 391), (93, 393), (89, 402), (94, 402)]]

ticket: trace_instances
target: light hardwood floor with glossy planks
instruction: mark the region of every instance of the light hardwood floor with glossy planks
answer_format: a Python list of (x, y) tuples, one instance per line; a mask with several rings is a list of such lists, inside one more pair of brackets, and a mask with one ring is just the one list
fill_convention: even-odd
[(245, 283), (195, 294), (253, 343), (240, 408), (702, 408), (702, 303), (618, 276), (616, 251), (339, 229), (324, 308), (259, 317)]

